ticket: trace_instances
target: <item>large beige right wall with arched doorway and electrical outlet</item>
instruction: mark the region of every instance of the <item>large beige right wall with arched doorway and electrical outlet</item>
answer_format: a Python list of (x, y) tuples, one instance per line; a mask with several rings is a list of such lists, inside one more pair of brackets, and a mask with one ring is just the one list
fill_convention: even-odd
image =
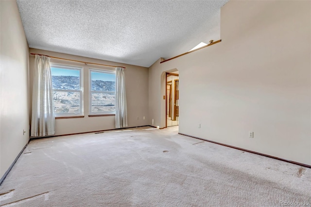
[(164, 126), (162, 74), (178, 69), (180, 133), (311, 165), (310, 8), (229, 1), (222, 42), (150, 67), (150, 117)]

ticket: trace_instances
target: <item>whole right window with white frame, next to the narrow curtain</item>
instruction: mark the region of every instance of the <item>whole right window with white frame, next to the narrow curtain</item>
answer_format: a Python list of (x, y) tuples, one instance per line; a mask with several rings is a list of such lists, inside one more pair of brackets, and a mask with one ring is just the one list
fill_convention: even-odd
[(116, 72), (114, 70), (89, 70), (89, 114), (116, 113)]

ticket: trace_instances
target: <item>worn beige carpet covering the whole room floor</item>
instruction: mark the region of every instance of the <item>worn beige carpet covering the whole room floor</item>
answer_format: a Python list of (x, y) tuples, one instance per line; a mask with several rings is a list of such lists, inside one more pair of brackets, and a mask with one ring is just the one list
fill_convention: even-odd
[(0, 186), (0, 206), (310, 206), (311, 169), (177, 132), (142, 127), (33, 140)]

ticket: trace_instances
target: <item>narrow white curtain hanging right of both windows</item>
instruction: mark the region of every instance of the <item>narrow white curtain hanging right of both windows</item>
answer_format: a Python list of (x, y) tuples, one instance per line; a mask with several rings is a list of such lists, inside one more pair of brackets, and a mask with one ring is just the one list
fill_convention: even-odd
[(124, 69), (116, 67), (116, 128), (127, 126)]

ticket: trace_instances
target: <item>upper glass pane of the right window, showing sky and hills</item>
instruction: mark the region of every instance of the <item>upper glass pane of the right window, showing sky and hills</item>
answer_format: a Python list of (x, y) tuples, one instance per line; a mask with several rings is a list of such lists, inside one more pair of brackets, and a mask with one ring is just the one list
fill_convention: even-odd
[(91, 71), (92, 91), (115, 91), (116, 74)]

